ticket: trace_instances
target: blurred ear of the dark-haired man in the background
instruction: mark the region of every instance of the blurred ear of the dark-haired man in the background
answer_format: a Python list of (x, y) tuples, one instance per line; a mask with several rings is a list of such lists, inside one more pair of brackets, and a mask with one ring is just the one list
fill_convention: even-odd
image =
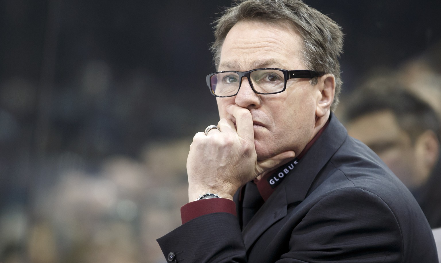
[(430, 175), (439, 157), (440, 142), (431, 130), (423, 132), (415, 141), (415, 158), (419, 162), (419, 169)]

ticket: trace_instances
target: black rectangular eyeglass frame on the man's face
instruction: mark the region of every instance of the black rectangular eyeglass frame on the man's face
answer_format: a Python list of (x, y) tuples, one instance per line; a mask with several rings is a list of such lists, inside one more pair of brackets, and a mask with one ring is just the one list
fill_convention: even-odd
[[(266, 70), (266, 69), (274, 69), (274, 70), (279, 70), (283, 72), (284, 75), (284, 86), (283, 89), (277, 92), (271, 92), (271, 93), (263, 93), (263, 92), (258, 92), (257, 90), (254, 89), (253, 87), (253, 83), (251, 83), (251, 79), (250, 79), (250, 73), (253, 71), (257, 71), (257, 70)], [(213, 75), (216, 75), (218, 73), (227, 73), (227, 72), (233, 72), (236, 73), (237, 75), (239, 75), (239, 88), (237, 89), (237, 92), (233, 95), (228, 95), (228, 96), (219, 96), (214, 94), (213, 89), (211, 88), (211, 77)], [(284, 92), (284, 90), (286, 90), (286, 83), (288, 81), (288, 79), (312, 79), (315, 77), (320, 77), (325, 75), (325, 73), (321, 73), (321, 72), (317, 72), (317, 71), (313, 71), (313, 70), (286, 70), (286, 69), (282, 69), (282, 68), (256, 68), (256, 69), (252, 69), (249, 71), (219, 71), (219, 72), (213, 72), (209, 75), (206, 76), (206, 80), (207, 80), (207, 86), (210, 89), (210, 92), (213, 96), (217, 97), (217, 98), (228, 98), (228, 97), (233, 97), (235, 95), (237, 95), (239, 93), (240, 90), (240, 86), (242, 86), (242, 79), (243, 77), (246, 77), (248, 79), (248, 83), (250, 83), (250, 87), (251, 89), (254, 91), (254, 93), (256, 94), (262, 94), (262, 95), (268, 95), (268, 94), (277, 94), (280, 92)]]

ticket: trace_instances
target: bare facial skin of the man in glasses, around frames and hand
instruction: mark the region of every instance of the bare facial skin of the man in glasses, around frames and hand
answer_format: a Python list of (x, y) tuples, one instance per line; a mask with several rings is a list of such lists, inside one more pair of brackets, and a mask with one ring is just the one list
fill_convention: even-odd
[[(248, 71), (255, 68), (305, 68), (303, 41), (282, 23), (239, 22), (232, 27), (221, 50), (219, 71)], [(309, 79), (290, 79), (286, 90), (259, 95), (243, 79), (234, 97), (217, 98), (219, 115), (233, 121), (226, 107), (239, 105), (250, 111), (254, 124), (254, 145), (259, 160), (286, 150), (299, 154), (313, 137), (316, 104), (320, 91)]]

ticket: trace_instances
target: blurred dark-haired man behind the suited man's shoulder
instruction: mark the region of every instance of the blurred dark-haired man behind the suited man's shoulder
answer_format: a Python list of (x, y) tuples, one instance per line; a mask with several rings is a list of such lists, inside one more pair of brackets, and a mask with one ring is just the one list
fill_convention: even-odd
[(440, 122), (426, 102), (379, 82), (348, 98), (348, 134), (369, 146), (418, 201), (432, 228), (441, 227)]

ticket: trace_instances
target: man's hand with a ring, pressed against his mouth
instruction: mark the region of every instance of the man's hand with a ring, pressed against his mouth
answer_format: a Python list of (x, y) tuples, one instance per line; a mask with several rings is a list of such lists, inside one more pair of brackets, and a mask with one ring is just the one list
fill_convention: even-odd
[(258, 161), (250, 111), (230, 105), (227, 112), (237, 129), (233, 120), (224, 118), (217, 124), (221, 131), (194, 135), (187, 158), (189, 202), (206, 192), (232, 200), (240, 186), (295, 157), (294, 151), (286, 151)]

